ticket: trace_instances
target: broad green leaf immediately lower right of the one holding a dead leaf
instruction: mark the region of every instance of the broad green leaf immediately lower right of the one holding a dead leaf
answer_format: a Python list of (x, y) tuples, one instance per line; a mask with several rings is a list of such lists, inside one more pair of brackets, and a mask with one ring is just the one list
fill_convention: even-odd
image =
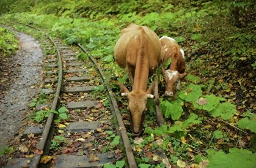
[(236, 106), (229, 102), (220, 103), (214, 110), (210, 111), (213, 117), (230, 119), (237, 112)]

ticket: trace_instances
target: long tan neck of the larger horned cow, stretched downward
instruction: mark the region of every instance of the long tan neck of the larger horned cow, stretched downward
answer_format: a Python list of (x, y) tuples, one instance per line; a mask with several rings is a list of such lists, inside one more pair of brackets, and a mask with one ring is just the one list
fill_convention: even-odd
[(149, 63), (145, 58), (140, 58), (136, 63), (134, 83), (132, 91), (146, 92), (149, 79)]

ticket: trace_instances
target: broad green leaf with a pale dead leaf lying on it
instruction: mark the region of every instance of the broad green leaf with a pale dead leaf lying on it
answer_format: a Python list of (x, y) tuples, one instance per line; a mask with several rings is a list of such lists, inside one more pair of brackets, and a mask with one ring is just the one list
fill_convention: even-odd
[(206, 111), (212, 111), (213, 109), (215, 109), (217, 107), (217, 105), (220, 102), (220, 98), (216, 97), (215, 95), (206, 95), (206, 96), (204, 96), (204, 98), (207, 103), (199, 105), (201, 99), (198, 99), (197, 101), (193, 101), (194, 107), (198, 108), (198, 109), (203, 109)]

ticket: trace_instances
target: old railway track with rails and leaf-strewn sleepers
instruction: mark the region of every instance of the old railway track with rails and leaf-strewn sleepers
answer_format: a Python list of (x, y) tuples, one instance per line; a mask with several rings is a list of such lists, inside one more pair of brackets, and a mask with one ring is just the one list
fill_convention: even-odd
[[(26, 26), (41, 31), (31, 25)], [(40, 137), (33, 157), (11, 159), (6, 167), (87, 168), (101, 167), (104, 163), (115, 163), (122, 159), (126, 160), (126, 167), (136, 168), (137, 164), (114, 94), (106, 84), (106, 78), (96, 60), (80, 44), (71, 48), (63, 41), (53, 40), (46, 33), (43, 34), (45, 38), (42, 42), (47, 50), (55, 50), (56, 53), (45, 56), (47, 78), (44, 80), (44, 86), (50, 84), (52, 87), (44, 88), (42, 92), (52, 94), (54, 98), (51, 104), (40, 104), (36, 109), (39, 111), (50, 108), (50, 111), (54, 112), (49, 113), (44, 127), (28, 126), (24, 132), (24, 137), (31, 134)], [(87, 54), (91, 61), (78, 60), (75, 56), (80, 52)], [(99, 86), (105, 87), (107, 92), (97, 95), (94, 90)], [(65, 119), (59, 123), (56, 122), (55, 119), (59, 119), (58, 115), (65, 109), (68, 110), (68, 117), (63, 117)], [(61, 141), (64, 150), (51, 146), (56, 136), (65, 138)], [(113, 144), (113, 138), (120, 143)], [(76, 146), (76, 149), (72, 146)], [(102, 152), (103, 150), (105, 151)], [(51, 156), (51, 161), (47, 164), (42, 162), (45, 156)]]

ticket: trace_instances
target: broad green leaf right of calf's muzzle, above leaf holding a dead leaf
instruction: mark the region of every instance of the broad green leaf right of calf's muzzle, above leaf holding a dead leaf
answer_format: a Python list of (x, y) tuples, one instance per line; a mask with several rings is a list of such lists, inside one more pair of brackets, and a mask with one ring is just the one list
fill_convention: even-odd
[(179, 98), (186, 101), (195, 101), (202, 95), (201, 87), (195, 84), (189, 84), (186, 89), (178, 92)]

